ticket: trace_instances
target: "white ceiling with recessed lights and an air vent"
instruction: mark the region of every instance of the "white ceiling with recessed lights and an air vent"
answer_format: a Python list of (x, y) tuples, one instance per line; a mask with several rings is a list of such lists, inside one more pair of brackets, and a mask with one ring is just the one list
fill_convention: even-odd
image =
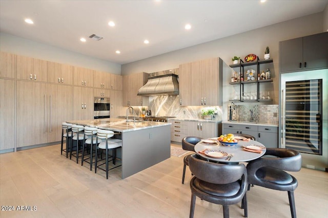
[[(125, 64), (322, 12), (327, 3), (0, 0), (0, 31)], [(25, 18), (33, 19), (34, 25), (25, 23)], [(110, 20), (115, 21), (114, 28), (108, 26)], [(184, 28), (186, 23), (192, 25), (189, 31)], [(94, 41), (88, 38), (91, 34), (104, 39)], [(150, 43), (144, 44), (145, 39)]]

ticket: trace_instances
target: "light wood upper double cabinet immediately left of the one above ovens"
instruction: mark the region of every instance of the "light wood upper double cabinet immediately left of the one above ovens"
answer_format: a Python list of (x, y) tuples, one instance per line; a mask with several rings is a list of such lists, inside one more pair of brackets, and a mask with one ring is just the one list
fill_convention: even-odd
[(74, 85), (93, 87), (93, 73), (94, 70), (83, 67), (73, 67)]

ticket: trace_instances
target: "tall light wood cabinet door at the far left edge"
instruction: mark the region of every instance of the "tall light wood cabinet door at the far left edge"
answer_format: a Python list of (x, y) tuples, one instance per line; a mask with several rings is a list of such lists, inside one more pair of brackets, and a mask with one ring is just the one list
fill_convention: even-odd
[(15, 83), (0, 79), (0, 151), (15, 147)]

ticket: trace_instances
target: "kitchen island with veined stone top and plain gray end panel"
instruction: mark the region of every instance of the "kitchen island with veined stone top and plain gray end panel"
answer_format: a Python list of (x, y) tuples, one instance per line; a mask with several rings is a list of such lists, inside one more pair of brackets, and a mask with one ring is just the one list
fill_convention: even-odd
[(170, 158), (171, 124), (126, 119), (105, 118), (68, 120), (67, 123), (81, 126), (111, 130), (120, 134), (115, 137), (122, 139), (121, 178), (125, 179), (156, 163)]

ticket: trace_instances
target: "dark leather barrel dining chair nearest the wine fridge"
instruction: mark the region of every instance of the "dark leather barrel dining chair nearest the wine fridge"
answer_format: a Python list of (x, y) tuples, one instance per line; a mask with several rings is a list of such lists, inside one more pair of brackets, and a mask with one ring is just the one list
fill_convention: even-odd
[[(269, 157), (267, 155), (270, 155)], [(298, 172), (302, 166), (299, 152), (291, 149), (268, 148), (262, 158), (253, 160), (247, 165), (248, 189), (250, 185), (288, 191), (289, 204), (293, 218), (296, 218), (294, 190), (297, 179), (285, 171)]]

